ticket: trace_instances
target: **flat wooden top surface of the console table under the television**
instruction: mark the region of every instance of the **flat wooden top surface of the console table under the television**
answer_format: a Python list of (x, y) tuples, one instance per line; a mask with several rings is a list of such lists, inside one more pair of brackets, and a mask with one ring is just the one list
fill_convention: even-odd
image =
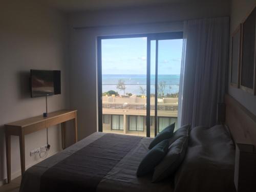
[(57, 116), (64, 115), (64, 114), (69, 114), (76, 112), (77, 110), (59, 110), (55, 112), (48, 113), (47, 117), (43, 117), (42, 115), (36, 116), (36, 117), (31, 117), (28, 119), (23, 119), (19, 121), (15, 121), (12, 123), (5, 124), (5, 126), (19, 126), (19, 127), (26, 127), (35, 123), (39, 123), (48, 119), (56, 118)]

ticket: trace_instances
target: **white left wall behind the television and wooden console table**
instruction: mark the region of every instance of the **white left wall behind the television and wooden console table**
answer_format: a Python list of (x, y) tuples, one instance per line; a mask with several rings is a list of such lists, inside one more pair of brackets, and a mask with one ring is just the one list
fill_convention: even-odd
[[(67, 18), (31, 0), (1, 1), (0, 6), (0, 182), (6, 175), (4, 124), (41, 115), (45, 98), (30, 98), (29, 70), (61, 70), (61, 95), (50, 96), (49, 112), (69, 107)], [(49, 129), (50, 155), (61, 149), (60, 129)], [(34, 148), (46, 144), (46, 130), (25, 136), (26, 166)], [(18, 137), (11, 137), (11, 173), (20, 172)]]

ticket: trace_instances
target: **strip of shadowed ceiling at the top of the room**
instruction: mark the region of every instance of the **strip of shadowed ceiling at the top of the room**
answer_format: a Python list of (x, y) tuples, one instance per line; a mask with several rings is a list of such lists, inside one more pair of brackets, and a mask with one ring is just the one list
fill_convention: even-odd
[[(161, 5), (198, 0), (44, 0), (49, 6), (66, 12)], [(209, 1), (209, 0), (208, 0)]]

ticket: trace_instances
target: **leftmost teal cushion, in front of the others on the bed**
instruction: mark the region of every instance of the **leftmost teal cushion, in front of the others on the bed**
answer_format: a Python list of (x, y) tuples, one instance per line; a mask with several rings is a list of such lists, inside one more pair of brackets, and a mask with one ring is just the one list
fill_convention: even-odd
[(166, 139), (154, 146), (147, 152), (137, 169), (137, 176), (143, 176), (153, 172), (155, 166), (164, 158), (168, 152), (169, 141)]

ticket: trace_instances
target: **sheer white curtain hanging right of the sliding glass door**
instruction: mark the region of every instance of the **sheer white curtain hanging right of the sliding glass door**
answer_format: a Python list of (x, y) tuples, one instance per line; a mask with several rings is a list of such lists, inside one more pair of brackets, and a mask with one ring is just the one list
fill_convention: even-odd
[(224, 101), (229, 17), (188, 20), (183, 36), (179, 123), (213, 126), (217, 104)]

